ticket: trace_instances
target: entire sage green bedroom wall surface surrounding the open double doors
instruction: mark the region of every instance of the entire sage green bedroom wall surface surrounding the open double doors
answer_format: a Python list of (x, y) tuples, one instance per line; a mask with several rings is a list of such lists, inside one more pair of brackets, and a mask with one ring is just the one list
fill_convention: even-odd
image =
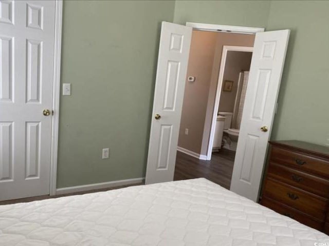
[(145, 175), (162, 20), (291, 29), (272, 138), (328, 144), (328, 12), (325, 1), (65, 1), (58, 188)]

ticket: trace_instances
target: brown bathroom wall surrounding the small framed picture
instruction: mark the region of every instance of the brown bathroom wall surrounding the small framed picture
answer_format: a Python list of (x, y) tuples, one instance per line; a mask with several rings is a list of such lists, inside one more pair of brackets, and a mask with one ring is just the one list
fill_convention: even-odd
[(242, 70), (249, 71), (252, 52), (228, 51), (226, 56), (223, 81), (233, 81), (231, 91), (223, 91), (222, 85), (221, 99), (218, 112), (233, 112), (239, 74)]

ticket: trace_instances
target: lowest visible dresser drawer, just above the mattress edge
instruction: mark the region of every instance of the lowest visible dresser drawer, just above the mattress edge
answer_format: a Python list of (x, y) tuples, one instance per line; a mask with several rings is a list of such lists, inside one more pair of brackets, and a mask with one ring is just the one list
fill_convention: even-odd
[(306, 224), (308, 227), (312, 227), (316, 230), (322, 231), (324, 226), (324, 221), (317, 220), (308, 216), (307, 214), (301, 213), (296, 209), (290, 208), (285, 204), (272, 200), (266, 196), (262, 197), (261, 204), (271, 210), (278, 212), (279, 214), (283, 214), (292, 219), (297, 220), (302, 224)]

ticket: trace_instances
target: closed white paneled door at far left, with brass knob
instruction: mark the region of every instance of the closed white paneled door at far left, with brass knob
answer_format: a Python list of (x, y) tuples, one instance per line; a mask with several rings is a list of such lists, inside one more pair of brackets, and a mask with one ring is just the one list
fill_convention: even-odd
[(49, 194), (54, 22), (55, 1), (0, 1), (0, 200)]

